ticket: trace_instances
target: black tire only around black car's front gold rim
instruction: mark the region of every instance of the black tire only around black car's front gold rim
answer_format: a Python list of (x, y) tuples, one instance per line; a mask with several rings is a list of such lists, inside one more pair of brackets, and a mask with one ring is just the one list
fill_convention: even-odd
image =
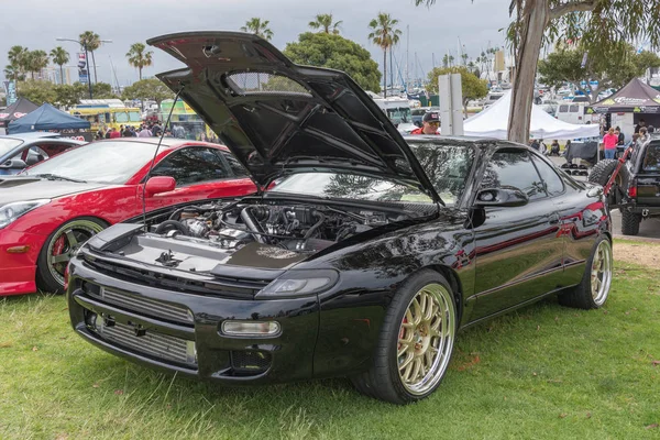
[[(406, 314), (408, 305), (410, 304), (410, 301), (413, 300), (415, 295), (422, 287), (425, 287), (429, 284), (439, 284), (439, 285), (443, 286), (450, 293), (450, 295), (452, 295), (452, 297), (453, 297), (453, 289), (451, 288), (451, 285), (448, 283), (448, 280), (444, 278), (444, 276), (440, 275), (439, 273), (437, 273), (435, 271), (430, 271), (430, 270), (419, 272), (419, 273), (415, 274), (414, 276), (411, 276), (410, 278), (408, 278), (402, 286), (399, 286), (399, 288), (397, 290), (397, 295), (395, 296), (395, 299), (391, 304), (389, 311), (388, 311), (387, 317), (385, 318), (385, 322), (383, 324), (383, 330), (384, 330), (385, 337), (387, 338), (387, 340), (386, 340), (386, 342), (387, 342), (386, 359), (387, 359), (387, 370), (388, 370), (389, 383), (395, 388), (395, 393), (399, 396), (399, 398), (402, 398), (405, 402), (421, 400), (425, 397), (429, 396), (438, 388), (438, 386), (440, 386), (440, 384), (442, 383), (442, 381), (444, 378), (444, 375), (447, 374), (447, 370), (446, 370), (442, 377), (440, 378), (440, 381), (438, 381), (438, 384), (436, 384), (435, 387), (432, 387), (425, 394), (415, 395), (406, 389), (406, 387), (404, 386), (404, 384), (400, 381), (399, 373), (398, 373), (396, 351), (397, 351), (397, 346), (398, 346), (398, 334), (399, 334), (400, 323), (404, 319), (404, 315)], [(455, 300), (452, 300), (451, 304), (452, 304), (452, 307), (454, 307), (454, 321), (455, 321), (454, 326), (458, 327), (458, 312), (457, 312)], [(453, 355), (453, 342), (455, 342), (455, 330), (457, 329), (454, 328), (454, 341), (452, 341), (452, 349), (451, 349), (451, 352), (449, 353), (449, 356), (450, 356), (449, 362), (451, 362), (451, 358)]]

